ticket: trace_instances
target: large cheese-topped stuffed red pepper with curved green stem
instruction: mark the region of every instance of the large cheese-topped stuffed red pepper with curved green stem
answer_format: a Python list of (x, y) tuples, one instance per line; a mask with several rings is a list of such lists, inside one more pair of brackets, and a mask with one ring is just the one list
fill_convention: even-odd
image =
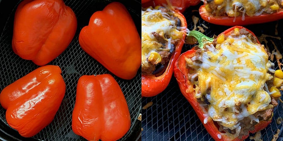
[(191, 31), (186, 42), (196, 41), (176, 61), (174, 75), (208, 133), (240, 141), (269, 125), (283, 72), (274, 70), (264, 45), (241, 26), (214, 39)]

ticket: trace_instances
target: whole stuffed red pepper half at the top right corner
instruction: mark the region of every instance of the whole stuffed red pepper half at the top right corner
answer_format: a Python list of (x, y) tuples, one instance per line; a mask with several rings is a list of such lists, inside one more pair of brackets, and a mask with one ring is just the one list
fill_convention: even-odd
[(283, 18), (281, 0), (204, 0), (200, 16), (219, 25), (249, 25), (276, 21)]

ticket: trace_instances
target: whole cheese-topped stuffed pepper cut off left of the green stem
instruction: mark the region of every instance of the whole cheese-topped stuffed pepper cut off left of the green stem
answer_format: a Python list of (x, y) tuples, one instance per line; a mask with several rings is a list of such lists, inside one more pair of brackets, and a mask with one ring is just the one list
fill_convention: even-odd
[(142, 96), (162, 92), (186, 37), (186, 19), (172, 7), (142, 8)]

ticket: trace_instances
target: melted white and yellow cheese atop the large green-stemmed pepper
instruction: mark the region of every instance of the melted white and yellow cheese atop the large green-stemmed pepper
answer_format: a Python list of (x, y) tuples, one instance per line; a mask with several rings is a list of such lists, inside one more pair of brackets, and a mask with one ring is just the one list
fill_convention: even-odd
[(224, 128), (235, 129), (240, 120), (268, 107), (271, 99), (264, 85), (273, 76), (267, 73), (271, 62), (264, 45), (241, 35), (201, 50), (200, 56), (191, 58), (198, 75), (195, 97), (208, 99), (209, 117)]

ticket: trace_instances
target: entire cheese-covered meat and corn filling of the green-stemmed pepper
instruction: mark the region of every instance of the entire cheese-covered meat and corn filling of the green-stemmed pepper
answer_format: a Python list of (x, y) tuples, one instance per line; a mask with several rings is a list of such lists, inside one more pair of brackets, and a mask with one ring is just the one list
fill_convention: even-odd
[(213, 120), (220, 132), (241, 139), (257, 123), (272, 118), (281, 95), (274, 95), (271, 88), (275, 70), (269, 56), (256, 37), (246, 29), (235, 28), (186, 59), (205, 124)]

